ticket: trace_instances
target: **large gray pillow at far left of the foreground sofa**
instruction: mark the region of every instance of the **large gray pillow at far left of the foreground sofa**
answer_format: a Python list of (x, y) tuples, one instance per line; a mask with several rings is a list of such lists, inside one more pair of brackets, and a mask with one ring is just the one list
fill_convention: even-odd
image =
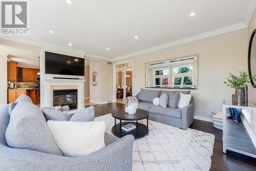
[(63, 156), (39, 108), (27, 100), (19, 100), (6, 129), (10, 147)]

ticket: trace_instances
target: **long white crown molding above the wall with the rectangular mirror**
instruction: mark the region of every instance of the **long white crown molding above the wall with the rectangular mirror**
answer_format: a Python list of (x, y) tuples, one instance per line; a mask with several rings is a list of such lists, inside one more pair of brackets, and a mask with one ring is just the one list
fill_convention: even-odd
[(116, 61), (116, 60), (121, 60), (121, 59), (129, 58), (129, 57), (133, 57), (133, 56), (137, 56), (137, 55), (141, 55), (141, 54), (145, 54), (145, 53), (149, 53), (149, 52), (154, 52), (154, 51), (158, 51), (158, 50), (161, 50), (161, 49), (166, 49), (166, 48), (174, 47), (174, 46), (177, 46), (177, 45), (185, 44), (187, 42), (196, 41), (196, 40), (199, 40), (199, 39), (203, 39), (203, 38), (207, 38), (207, 37), (211, 37), (211, 36), (216, 36), (216, 35), (219, 35), (219, 34), (228, 33), (228, 32), (231, 32), (231, 31), (236, 31), (236, 30), (240, 30), (240, 29), (244, 29), (244, 28), (247, 28), (247, 26), (245, 24), (238, 23), (238, 24), (234, 24), (234, 25), (231, 25), (231, 26), (227, 26), (227, 27), (223, 27), (223, 28), (220, 28), (220, 29), (205, 32), (205, 33), (202, 33), (202, 34), (198, 34), (198, 35), (195, 35), (195, 36), (191, 36), (191, 37), (183, 38), (183, 39), (180, 39), (180, 40), (172, 41), (172, 42), (169, 42), (167, 44), (163, 44), (163, 45), (156, 46), (156, 47), (153, 47), (153, 48), (148, 48), (148, 49), (145, 49), (145, 50), (142, 50), (142, 51), (138, 51), (138, 52), (134, 52), (134, 53), (131, 53), (131, 54), (119, 56), (119, 57), (113, 58), (112, 60)]

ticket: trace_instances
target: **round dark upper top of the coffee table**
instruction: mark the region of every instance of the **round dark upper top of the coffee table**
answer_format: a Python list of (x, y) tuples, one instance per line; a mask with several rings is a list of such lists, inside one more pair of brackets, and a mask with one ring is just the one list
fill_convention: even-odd
[(112, 112), (112, 116), (115, 119), (119, 120), (142, 120), (148, 117), (148, 112), (141, 109), (137, 109), (135, 114), (129, 115), (123, 109), (118, 109)]

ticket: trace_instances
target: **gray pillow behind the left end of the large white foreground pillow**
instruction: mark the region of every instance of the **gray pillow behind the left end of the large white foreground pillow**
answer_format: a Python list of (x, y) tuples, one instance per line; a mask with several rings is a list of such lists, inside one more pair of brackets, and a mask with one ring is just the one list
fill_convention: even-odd
[(41, 108), (42, 114), (44, 114), (46, 121), (57, 120), (57, 121), (69, 121), (74, 113), (66, 113), (61, 111), (52, 111), (48, 108)]

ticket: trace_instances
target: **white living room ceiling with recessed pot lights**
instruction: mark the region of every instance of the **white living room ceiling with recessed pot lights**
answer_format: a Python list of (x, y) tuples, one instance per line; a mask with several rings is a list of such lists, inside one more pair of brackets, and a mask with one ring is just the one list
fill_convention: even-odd
[(242, 23), (249, 0), (71, 1), (30, 1), (29, 39), (116, 58)]

